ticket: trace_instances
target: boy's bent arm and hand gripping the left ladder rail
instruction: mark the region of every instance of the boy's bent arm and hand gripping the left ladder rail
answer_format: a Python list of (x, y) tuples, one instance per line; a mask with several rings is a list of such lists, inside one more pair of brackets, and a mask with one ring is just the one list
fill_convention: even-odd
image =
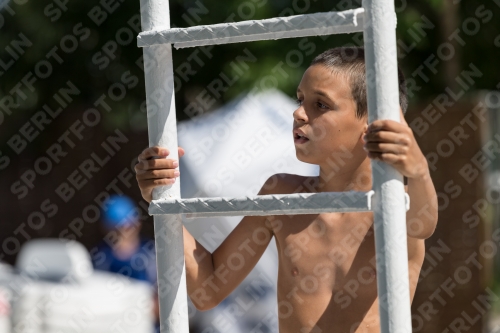
[[(183, 155), (179, 147), (179, 156)], [(136, 178), (146, 201), (151, 201), (153, 188), (172, 184), (177, 177), (175, 161), (166, 156), (168, 151), (159, 147), (147, 148), (139, 155)], [(266, 185), (259, 195), (270, 193)], [(273, 236), (266, 216), (245, 216), (210, 253), (186, 228), (183, 231), (188, 294), (199, 310), (211, 309), (224, 300), (255, 267)]]

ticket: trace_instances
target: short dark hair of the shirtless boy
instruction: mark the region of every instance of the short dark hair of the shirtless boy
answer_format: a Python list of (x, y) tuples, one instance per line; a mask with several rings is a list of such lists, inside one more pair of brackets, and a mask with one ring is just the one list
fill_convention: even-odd
[[(366, 69), (365, 50), (362, 47), (337, 47), (326, 50), (311, 62), (313, 65), (323, 65), (336, 71), (338, 74), (346, 75), (350, 80), (352, 97), (356, 101), (356, 116), (363, 118), (367, 112), (366, 101)], [(403, 72), (398, 67), (399, 79), (399, 105), (406, 113), (408, 108), (408, 96), (406, 94), (406, 81)]]

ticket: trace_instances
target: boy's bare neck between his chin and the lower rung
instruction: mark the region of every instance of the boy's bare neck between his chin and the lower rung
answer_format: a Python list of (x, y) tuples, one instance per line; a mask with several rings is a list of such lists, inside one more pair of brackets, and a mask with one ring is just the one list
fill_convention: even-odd
[(332, 168), (329, 164), (319, 165), (317, 192), (369, 191), (372, 188), (370, 159), (361, 163), (345, 164)]

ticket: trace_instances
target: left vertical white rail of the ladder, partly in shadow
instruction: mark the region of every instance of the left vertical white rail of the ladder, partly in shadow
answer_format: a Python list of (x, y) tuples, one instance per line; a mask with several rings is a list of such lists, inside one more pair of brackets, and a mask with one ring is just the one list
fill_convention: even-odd
[[(170, 28), (168, 0), (141, 0), (143, 31)], [(149, 146), (158, 145), (178, 159), (171, 44), (145, 47), (144, 74)], [(180, 178), (153, 191), (153, 199), (180, 198)], [(158, 299), (162, 333), (189, 333), (186, 268), (181, 215), (154, 217)]]

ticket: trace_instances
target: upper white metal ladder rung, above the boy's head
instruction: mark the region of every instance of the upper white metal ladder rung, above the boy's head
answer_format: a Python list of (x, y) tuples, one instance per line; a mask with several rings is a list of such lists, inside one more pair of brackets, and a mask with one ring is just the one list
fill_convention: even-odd
[(363, 31), (364, 9), (144, 31), (139, 47), (174, 44), (176, 48), (250, 42), (291, 37), (321, 36)]

